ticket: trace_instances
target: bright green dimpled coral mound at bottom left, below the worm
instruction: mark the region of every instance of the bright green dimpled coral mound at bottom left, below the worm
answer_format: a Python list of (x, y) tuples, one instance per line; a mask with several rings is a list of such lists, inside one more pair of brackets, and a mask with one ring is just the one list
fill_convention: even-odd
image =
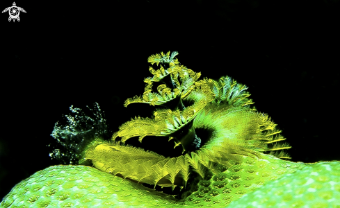
[(51, 166), (13, 188), (0, 207), (164, 207), (172, 196), (89, 166)]

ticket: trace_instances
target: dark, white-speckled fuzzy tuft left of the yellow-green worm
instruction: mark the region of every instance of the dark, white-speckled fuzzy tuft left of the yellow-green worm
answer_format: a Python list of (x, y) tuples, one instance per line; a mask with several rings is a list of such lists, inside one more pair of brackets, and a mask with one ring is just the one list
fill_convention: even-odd
[(51, 133), (57, 141), (54, 150), (49, 153), (52, 159), (58, 159), (63, 164), (79, 164), (87, 144), (94, 139), (111, 136), (104, 119), (104, 112), (100, 110), (98, 103), (94, 103), (93, 109), (88, 107), (88, 110), (92, 115), (89, 116), (80, 108), (71, 105), (71, 113), (65, 115), (66, 124), (56, 122)]

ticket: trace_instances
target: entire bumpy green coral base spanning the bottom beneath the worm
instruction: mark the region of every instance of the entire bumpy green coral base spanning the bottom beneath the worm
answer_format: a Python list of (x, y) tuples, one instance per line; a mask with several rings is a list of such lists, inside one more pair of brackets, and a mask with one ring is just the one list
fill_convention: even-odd
[(339, 178), (340, 162), (246, 159), (181, 201), (88, 166), (51, 166), (17, 184), (0, 207), (339, 207)]

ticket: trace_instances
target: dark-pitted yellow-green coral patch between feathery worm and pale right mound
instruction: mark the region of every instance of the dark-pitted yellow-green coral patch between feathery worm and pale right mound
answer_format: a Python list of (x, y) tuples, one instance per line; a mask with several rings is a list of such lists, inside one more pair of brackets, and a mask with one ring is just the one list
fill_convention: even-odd
[(294, 173), (305, 166), (271, 155), (261, 156), (262, 159), (243, 157), (242, 162), (213, 174), (209, 180), (200, 180), (197, 183), (197, 191), (193, 191), (185, 199), (186, 205), (226, 207), (230, 202), (254, 191), (264, 183), (276, 180), (284, 174)]

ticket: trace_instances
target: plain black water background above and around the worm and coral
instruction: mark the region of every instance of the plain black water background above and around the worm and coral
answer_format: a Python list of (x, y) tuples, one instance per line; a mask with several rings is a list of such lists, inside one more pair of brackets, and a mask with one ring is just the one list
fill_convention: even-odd
[[(0, 9), (13, 1), (1, 1)], [(202, 77), (249, 87), (293, 146), (294, 162), (339, 160), (339, 24), (335, 0), (16, 1), (0, 18), (0, 198), (58, 162), (54, 123), (95, 101), (113, 131), (150, 116), (147, 58), (179, 51)], [(160, 147), (161, 148), (161, 147)]]

